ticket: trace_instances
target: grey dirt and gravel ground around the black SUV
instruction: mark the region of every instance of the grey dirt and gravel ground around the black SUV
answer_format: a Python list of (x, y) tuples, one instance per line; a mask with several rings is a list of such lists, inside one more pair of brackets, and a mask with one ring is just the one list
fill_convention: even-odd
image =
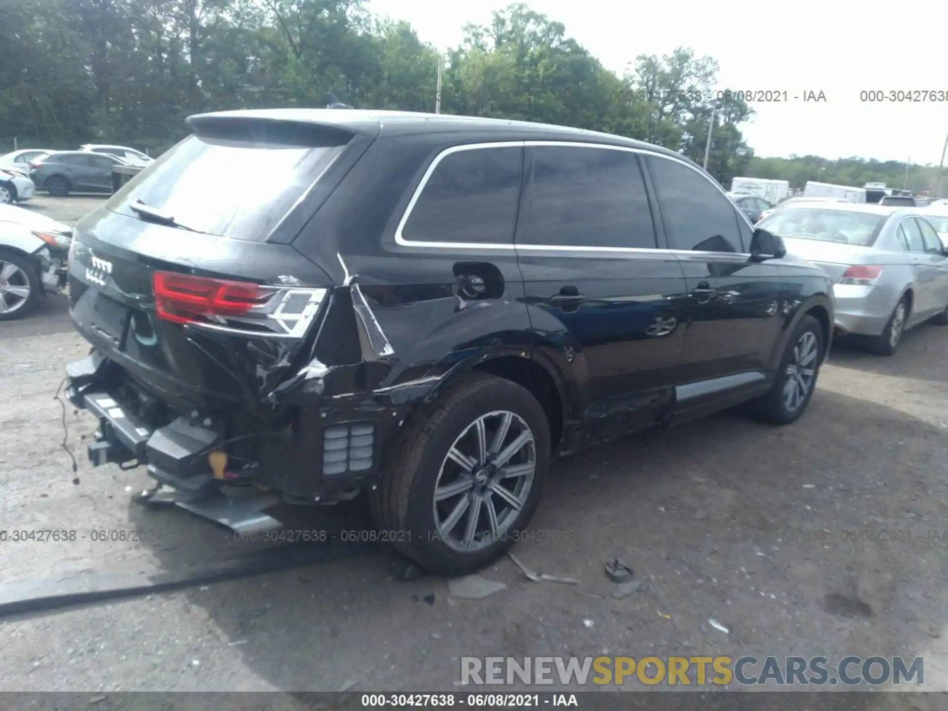
[[(66, 211), (94, 204), (52, 202), (33, 207), (75, 219)], [(840, 345), (788, 428), (724, 413), (560, 461), (515, 553), (578, 585), (531, 582), (504, 558), (483, 576), (505, 590), (456, 599), (438, 577), (396, 582), (383, 552), (12, 617), (0, 690), (451, 690), (460, 656), (492, 654), (924, 655), (926, 689), (948, 689), (946, 347), (948, 329), (932, 325), (892, 358)], [(80, 537), (0, 543), (0, 584), (246, 551), (185, 511), (130, 503), (126, 487), (147, 478), (90, 469), (80, 436), (94, 423), (68, 410), (71, 482), (53, 393), (84, 351), (62, 300), (0, 325), (0, 528)], [(296, 512), (308, 529), (362, 515)], [(94, 529), (140, 540), (94, 542)], [(603, 574), (615, 556), (644, 581), (625, 599)]]

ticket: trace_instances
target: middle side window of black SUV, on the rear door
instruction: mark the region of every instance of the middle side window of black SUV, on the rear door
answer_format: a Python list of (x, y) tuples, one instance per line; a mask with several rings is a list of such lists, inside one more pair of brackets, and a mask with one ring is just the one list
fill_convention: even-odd
[(518, 245), (654, 249), (638, 158), (629, 151), (537, 146), (520, 208)]

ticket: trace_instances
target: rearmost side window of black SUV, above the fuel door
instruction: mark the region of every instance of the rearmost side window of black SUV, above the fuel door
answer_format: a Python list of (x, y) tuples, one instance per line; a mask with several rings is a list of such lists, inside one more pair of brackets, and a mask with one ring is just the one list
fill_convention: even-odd
[(402, 237), (414, 242), (513, 244), (522, 162), (520, 146), (446, 155), (428, 177)]

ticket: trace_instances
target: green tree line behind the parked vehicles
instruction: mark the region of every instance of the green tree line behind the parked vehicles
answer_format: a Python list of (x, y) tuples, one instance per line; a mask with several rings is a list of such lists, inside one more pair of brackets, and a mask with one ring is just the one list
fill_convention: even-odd
[[(21, 148), (98, 141), (157, 155), (185, 136), (191, 114), (321, 107), (329, 92), (356, 108), (430, 112), (442, 59), (443, 113), (606, 131), (703, 161), (718, 75), (710, 57), (685, 47), (640, 55), (619, 76), (561, 23), (514, 4), (466, 26), (442, 58), (362, 0), (0, 4), (0, 153), (16, 137)], [(717, 101), (708, 170), (725, 185), (774, 172), (794, 185), (816, 179), (807, 171), (822, 158), (756, 158), (739, 128), (752, 115), (742, 100)], [(891, 182), (888, 165), (869, 161), (864, 173)]]

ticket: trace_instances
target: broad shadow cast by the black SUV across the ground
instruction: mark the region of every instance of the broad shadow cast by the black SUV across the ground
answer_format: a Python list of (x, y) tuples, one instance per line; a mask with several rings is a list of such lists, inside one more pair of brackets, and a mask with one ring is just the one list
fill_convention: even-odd
[[(555, 465), (515, 549), (578, 584), (531, 582), (504, 558), (482, 575), (505, 590), (456, 599), (438, 576), (393, 580), (382, 553), (192, 589), (218, 653), (252, 676), (202, 690), (483, 691), (455, 684), (465, 655), (931, 654), (948, 633), (931, 538), (946, 454), (943, 428), (825, 391), (787, 428), (725, 413), (598, 447)], [(364, 513), (297, 509), (291, 526), (357, 530)], [(129, 520), (165, 570), (252, 545), (178, 509)], [(603, 574), (616, 556), (644, 583), (628, 599)]]

